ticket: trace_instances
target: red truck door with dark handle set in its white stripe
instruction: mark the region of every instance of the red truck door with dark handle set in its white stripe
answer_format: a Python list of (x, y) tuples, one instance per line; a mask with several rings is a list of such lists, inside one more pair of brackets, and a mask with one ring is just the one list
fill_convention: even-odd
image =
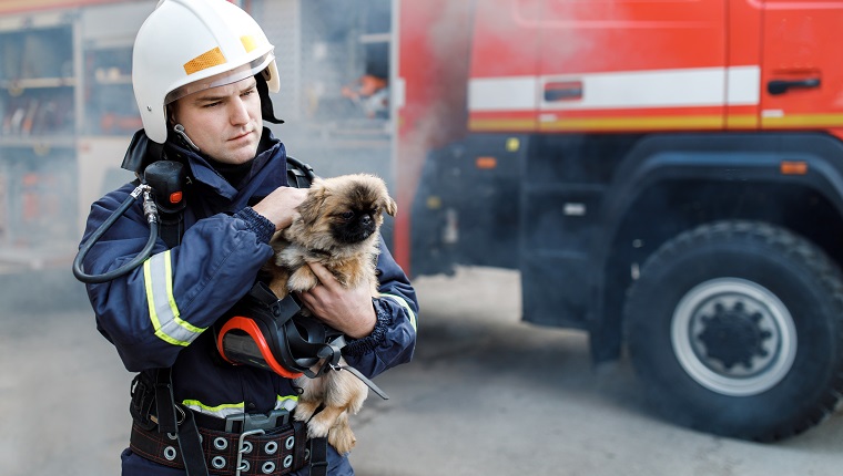
[(723, 127), (725, 3), (545, 0), (540, 130)]

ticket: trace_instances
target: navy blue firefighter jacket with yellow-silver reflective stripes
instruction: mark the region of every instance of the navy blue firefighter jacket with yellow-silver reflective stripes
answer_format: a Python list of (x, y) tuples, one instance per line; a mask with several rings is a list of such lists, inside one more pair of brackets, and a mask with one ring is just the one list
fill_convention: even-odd
[[(250, 205), (287, 185), (284, 145), (264, 128), (258, 155), (238, 189), (192, 151), (167, 142), (166, 153), (189, 165), (182, 241), (167, 249), (159, 238), (143, 266), (113, 281), (88, 284), (98, 330), (129, 371), (172, 366), (175, 400), (193, 410), (225, 416), (292, 408), (296, 392), (290, 380), (220, 362), (211, 332), (272, 256), (274, 226)], [(92, 205), (83, 242), (133, 189), (126, 184)], [(136, 203), (91, 249), (85, 272), (119, 268), (143, 248), (149, 234)], [(418, 312), (415, 291), (383, 240), (377, 267), (383, 296), (373, 300), (375, 330), (343, 350), (348, 364), (369, 377), (410, 360)]]

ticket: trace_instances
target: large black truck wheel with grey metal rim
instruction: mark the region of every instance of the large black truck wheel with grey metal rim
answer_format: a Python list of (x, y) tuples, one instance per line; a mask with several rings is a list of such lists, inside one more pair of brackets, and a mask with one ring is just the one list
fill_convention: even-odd
[(843, 394), (843, 281), (790, 231), (722, 221), (656, 251), (624, 309), (630, 359), (668, 420), (762, 442), (801, 433)]

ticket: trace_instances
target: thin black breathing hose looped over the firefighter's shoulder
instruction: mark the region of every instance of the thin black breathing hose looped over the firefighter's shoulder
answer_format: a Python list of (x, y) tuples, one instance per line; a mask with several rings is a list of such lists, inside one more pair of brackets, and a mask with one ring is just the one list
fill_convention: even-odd
[[(129, 207), (132, 206), (132, 203), (134, 203), (134, 200), (136, 200), (141, 195), (143, 195), (143, 214), (146, 217), (146, 221), (150, 224), (150, 238), (146, 241), (146, 246), (144, 246), (138, 256), (135, 256), (131, 261), (118, 269), (104, 272), (102, 275), (87, 275), (82, 270), (82, 261), (84, 261), (88, 252), (91, 250), (91, 248), (93, 248), (97, 241), (99, 241), (100, 238), (105, 235), (105, 231), (108, 231), (109, 228), (114, 225), (114, 223), (129, 209)], [(155, 200), (152, 196), (152, 187), (146, 184), (141, 184), (134, 190), (132, 190), (131, 194), (129, 194), (129, 197), (123, 200), (120, 207), (118, 207), (118, 209), (114, 210), (114, 213), (111, 214), (111, 216), (105, 221), (103, 221), (99, 228), (97, 228), (88, 241), (85, 241), (79, 248), (79, 253), (77, 253), (77, 258), (73, 260), (73, 276), (75, 276), (78, 280), (84, 283), (100, 283), (111, 281), (115, 278), (126, 275), (129, 271), (141, 266), (143, 261), (150, 257), (152, 253), (152, 248), (155, 246), (155, 240), (158, 240), (158, 235), (159, 215), (158, 207), (155, 206)]]

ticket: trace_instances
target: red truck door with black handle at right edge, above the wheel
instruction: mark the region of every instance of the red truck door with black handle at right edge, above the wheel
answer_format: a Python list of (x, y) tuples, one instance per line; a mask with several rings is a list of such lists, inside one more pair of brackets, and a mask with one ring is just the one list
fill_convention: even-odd
[(843, 1), (764, 0), (764, 130), (843, 126)]

